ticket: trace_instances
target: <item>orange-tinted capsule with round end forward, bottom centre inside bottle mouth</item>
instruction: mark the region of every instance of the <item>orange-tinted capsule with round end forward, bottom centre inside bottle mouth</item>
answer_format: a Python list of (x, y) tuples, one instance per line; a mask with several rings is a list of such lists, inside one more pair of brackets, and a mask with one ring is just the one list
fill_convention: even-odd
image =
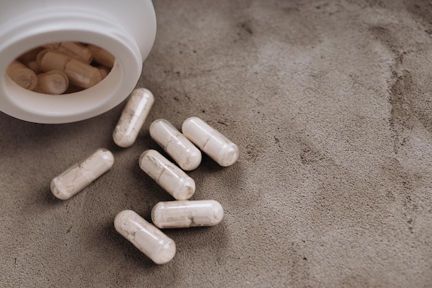
[(64, 93), (69, 86), (69, 79), (60, 70), (50, 70), (37, 75), (37, 90), (41, 93), (59, 95)]

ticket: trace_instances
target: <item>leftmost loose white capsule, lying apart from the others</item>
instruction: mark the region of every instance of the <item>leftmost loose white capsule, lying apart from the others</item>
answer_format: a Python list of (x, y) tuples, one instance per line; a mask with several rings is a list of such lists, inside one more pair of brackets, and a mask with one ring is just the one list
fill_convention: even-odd
[(85, 160), (75, 163), (51, 180), (51, 192), (61, 200), (67, 200), (86, 188), (114, 164), (114, 156), (104, 148), (98, 149)]

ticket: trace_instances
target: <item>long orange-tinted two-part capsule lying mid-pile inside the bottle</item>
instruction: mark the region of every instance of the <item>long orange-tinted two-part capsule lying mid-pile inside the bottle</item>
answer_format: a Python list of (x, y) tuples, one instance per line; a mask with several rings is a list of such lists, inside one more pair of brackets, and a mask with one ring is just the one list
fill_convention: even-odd
[(98, 84), (102, 77), (96, 67), (90, 66), (84, 61), (63, 55), (55, 50), (42, 50), (36, 57), (37, 64), (45, 72), (61, 70), (70, 83), (81, 88), (90, 88)]

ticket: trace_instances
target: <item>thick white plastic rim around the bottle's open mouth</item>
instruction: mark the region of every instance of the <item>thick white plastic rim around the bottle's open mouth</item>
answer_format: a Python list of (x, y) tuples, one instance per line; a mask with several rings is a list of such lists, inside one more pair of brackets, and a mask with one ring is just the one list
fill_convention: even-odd
[[(104, 113), (123, 101), (141, 74), (142, 57), (133, 37), (115, 21), (89, 10), (43, 10), (19, 15), (0, 27), (0, 109), (30, 122), (66, 123)], [(10, 62), (27, 50), (59, 41), (95, 44), (115, 56), (115, 65), (99, 84), (78, 93), (46, 95), (15, 84)]]

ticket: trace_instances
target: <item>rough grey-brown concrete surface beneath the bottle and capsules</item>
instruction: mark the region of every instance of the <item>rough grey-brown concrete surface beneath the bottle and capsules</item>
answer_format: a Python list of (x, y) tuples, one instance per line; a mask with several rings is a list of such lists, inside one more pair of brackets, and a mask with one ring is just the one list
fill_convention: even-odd
[[(121, 108), (43, 125), (0, 115), (1, 287), (432, 287), (430, 1), (155, 1), (138, 86), (155, 106), (117, 148)], [(193, 199), (216, 227), (165, 230), (154, 265), (113, 227), (170, 195), (137, 164), (158, 118), (202, 117), (236, 142)], [(96, 148), (115, 165), (68, 201), (52, 177)]]

